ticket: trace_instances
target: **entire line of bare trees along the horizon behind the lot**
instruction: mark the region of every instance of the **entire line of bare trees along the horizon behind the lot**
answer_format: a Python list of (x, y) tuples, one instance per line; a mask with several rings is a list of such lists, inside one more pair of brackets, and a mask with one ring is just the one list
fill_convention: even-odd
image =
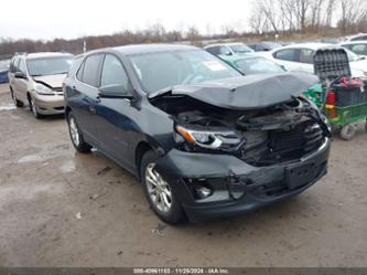
[[(145, 30), (125, 30), (111, 35), (84, 36), (73, 40), (54, 39), (12, 40), (0, 38), (0, 56), (15, 52), (64, 51), (82, 53), (84, 43), (87, 50), (137, 43), (179, 42), (199, 45), (205, 40), (263, 39), (263, 35), (293, 35), (307, 33), (333, 35), (367, 31), (367, 0), (253, 0), (250, 15), (244, 19), (250, 27), (248, 32), (239, 32), (225, 25), (220, 34), (207, 31), (203, 34), (195, 27), (186, 30), (166, 31), (155, 23)], [(334, 27), (333, 27), (334, 25)], [(336, 28), (335, 28), (336, 25)], [(208, 28), (211, 29), (211, 28)], [(273, 38), (273, 36), (271, 36)]]

